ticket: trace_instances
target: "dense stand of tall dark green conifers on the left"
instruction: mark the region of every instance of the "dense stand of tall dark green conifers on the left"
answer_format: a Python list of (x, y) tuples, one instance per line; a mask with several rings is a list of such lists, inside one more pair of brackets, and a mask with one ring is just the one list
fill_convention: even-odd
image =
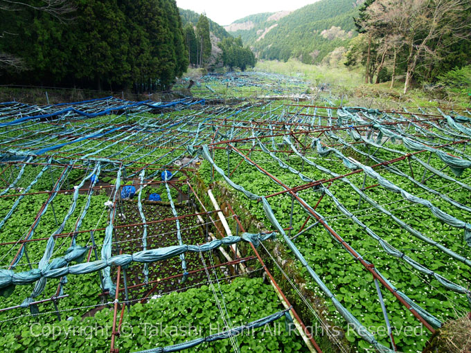
[(175, 0), (81, 0), (66, 14), (35, 3), (0, 10), (3, 83), (139, 92), (188, 67)]

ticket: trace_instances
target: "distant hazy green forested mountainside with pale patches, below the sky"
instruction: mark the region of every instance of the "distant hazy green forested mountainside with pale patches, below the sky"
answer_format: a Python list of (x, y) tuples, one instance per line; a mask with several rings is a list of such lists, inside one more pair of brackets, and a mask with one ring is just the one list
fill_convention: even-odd
[[(287, 14), (263, 13), (240, 19), (249, 29), (233, 32), (251, 46), (260, 59), (297, 57), (311, 64), (321, 62), (339, 46), (355, 37), (353, 17), (363, 0), (321, 0)], [(281, 17), (278, 19), (278, 17)], [(253, 24), (253, 26), (249, 25)], [(237, 28), (233, 26), (232, 28)]]

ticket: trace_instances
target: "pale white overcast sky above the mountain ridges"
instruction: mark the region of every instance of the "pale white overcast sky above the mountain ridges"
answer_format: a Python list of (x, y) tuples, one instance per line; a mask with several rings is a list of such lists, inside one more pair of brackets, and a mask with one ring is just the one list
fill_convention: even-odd
[(213, 21), (221, 26), (231, 24), (236, 19), (260, 12), (296, 10), (317, 0), (177, 0), (179, 8), (206, 12)]

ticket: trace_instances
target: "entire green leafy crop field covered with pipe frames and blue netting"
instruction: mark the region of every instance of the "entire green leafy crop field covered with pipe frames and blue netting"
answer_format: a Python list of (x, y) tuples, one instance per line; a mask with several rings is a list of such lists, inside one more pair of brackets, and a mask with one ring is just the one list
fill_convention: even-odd
[(422, 352), (470, 311), (471, 113), (309, 87), (0, 103), (0, 347)]

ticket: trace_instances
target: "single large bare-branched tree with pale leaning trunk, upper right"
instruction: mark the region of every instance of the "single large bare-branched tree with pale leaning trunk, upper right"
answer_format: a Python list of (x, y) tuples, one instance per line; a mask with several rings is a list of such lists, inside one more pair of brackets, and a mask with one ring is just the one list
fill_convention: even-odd
[(447, 46), (471, 36), (470, 7), (469, 0), (377, 0), (368, 7), (365, 26), (373, 35), (385, 30), (392, 48), (407, 51), (404, 93), (421, 60), (440, 60)]

